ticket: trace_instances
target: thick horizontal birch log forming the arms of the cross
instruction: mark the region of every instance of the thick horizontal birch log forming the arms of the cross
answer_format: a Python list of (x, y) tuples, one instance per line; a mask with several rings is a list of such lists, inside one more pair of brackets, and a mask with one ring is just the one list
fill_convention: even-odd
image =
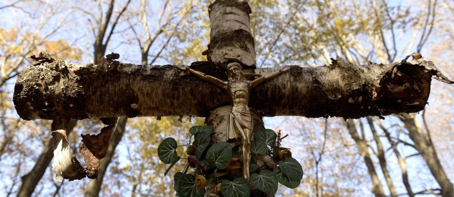
[[(226, 80), (224, 65), (208, 62), (191, 68)], [(272, 71), (275, 69), (251, 72), (263, 75)], [(443, 77), (426, 61), (354, 66), (338, 59), (322, 67), (291, 66), (255, 87), (249, 106), (261, 116), (314, 118), (418, 112), (427, 103), (432, 75)], [(55, 96), (59, 90), (63, 94)], [(18, 76), (14, 92), (16, 110), (25, 120), (52, 119), (56, 114), (74, 119), (206, 117), (211, 110), (230, 105), (230, 100), (226, 91), (186, 75), (176, 66), (131, 65), (110, 59), (100, 65), (58, 60), (28, 66)]]

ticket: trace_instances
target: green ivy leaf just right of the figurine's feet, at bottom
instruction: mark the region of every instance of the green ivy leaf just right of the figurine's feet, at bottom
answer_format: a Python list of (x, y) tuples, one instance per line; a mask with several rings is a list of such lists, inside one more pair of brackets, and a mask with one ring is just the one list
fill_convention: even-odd
[(277, 178), (269, 170), (261, 170), (259, 174), (252, 173), (251, 184), (268, 195), (274, 195), (277, 192)]

